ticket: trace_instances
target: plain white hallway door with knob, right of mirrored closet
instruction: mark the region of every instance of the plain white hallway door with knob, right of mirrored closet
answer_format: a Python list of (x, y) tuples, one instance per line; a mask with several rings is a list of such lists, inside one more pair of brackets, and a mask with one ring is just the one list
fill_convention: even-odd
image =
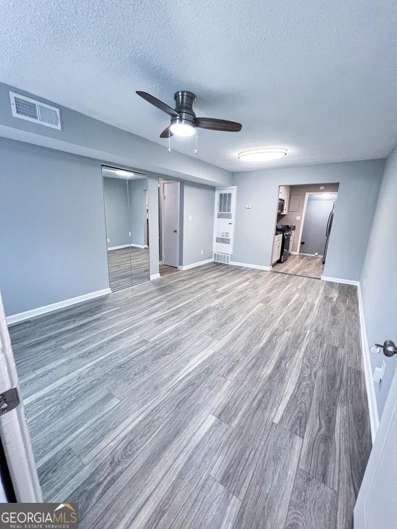
[(163, 263), (179, 265), (179, 182), (163, 182)]

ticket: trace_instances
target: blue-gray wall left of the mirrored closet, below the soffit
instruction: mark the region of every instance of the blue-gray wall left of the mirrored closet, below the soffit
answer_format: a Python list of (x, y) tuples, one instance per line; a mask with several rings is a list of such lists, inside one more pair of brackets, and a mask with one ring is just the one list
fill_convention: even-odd
[(0, 139), (6, 314), (109, 287), (101, 164)]

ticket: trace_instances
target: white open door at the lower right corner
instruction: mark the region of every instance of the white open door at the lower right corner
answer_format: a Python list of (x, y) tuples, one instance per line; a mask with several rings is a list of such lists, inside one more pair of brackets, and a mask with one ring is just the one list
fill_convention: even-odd
[(354, 529), (397, 528), (397, 370), (354, 508)]

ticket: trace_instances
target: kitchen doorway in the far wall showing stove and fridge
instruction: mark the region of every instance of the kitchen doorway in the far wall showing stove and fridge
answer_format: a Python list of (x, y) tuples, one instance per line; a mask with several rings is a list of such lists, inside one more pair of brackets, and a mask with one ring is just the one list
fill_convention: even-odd
[(272, 271), (323, 276), (338, 188), (338, 183), (279, 187)]

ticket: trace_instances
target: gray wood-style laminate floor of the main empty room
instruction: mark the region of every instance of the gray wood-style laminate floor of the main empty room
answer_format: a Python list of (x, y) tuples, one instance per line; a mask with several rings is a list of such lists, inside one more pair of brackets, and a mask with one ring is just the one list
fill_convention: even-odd
[(211, 263), (10, 331), (45, 501), (82, 529), (352, 528), (356, 287)]

